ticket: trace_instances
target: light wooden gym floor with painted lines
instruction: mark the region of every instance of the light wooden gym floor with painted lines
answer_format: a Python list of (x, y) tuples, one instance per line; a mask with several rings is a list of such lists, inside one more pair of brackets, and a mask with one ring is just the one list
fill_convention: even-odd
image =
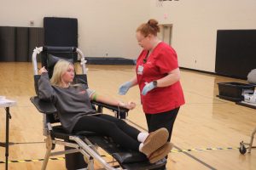
[[(138, 88), (131, 88), (125, 96), (117, 94), (119, 85), (135, 75), (134, 66), (88, 65), (88, 68), (90, 88), (116, 99), (135, 101), (137, 108), (129, 112), (129, 119), (146, 128)], [(29, 100), (35, 95), (32, 77), (32, 63), (0, 63), (0, 95), (17, 101), (10, 108), (10, 170), (40, 169), (43, 163), (38, 161), (44, 158), (45, 152), (42, 115)], [(256, 127), (256, 111), (216, 97), (218, 82), (244, 81), (181, 71), (181, 82), (186, 105), (182, 106), (174, 125), (175, 147), (169, 154), (167, 169), (256, 169), (256, 150), (245, 155), (238, 150), (241, 140), (250, 140)], [(5, 111), (0, 108), (0, 142), (4, 141)], [(0, 147), (0, 169), (4, 169), (4, 153)], [(47, 169), (65, 169), (63, 156), (55, 157), (60, 160), (50, 160)]]

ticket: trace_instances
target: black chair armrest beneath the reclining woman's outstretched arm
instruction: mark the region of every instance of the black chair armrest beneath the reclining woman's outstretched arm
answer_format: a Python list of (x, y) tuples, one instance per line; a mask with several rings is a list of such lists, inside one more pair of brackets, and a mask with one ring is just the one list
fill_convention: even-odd
[(121, 119), (125, 119), (125, 117), (128, 115), (128, 111), (129, 111), (129, 109), (126, 109), (124, 107), (118, 107), (118, 106), (115, 106), (115, 105), (108, 105), (108, 104), (104, 104), (102, 102), (98, 102), (98, 101), (95, 101), (95, 100), (92, 100), (91, 104), (98, 106), (98, 109), (97, 109), (98, 113), (102, 112), (102, 108), (104, 107), (104, 108), (107, 108), (107, 109), (113, 111), (114, 113), (116, 113), (117, 117), (121, 118)]

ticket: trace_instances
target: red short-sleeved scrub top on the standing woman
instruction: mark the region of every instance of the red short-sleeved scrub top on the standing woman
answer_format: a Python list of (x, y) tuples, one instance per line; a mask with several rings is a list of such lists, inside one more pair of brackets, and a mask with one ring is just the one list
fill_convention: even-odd
[[(141, 92), (145, 82), (166, 77), (168, 72), (178, 67), (175, 50), (165, 42), (160, 42), (154, 48), (144, 64), (143, 59), (146, 58), (147, 53), (147, 50), (143, 50), (137, 59), (137, 83)], [(171, 111), (185, 103), (183, 89), (179, 81), (168, 87), (154, 88), (146, 95), (141, 94), (141, 100), (143, 111), (148, 114)]]

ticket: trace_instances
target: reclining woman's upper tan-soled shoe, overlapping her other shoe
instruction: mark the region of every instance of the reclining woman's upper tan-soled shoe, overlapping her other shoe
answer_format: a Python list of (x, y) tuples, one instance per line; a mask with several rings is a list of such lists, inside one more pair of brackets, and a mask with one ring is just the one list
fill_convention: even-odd
[(148, 138), (143, 143), (143, 154), (150, 156), (155, 150), (166, 144), (168, 137), (169, 133), (164, 127), (149, 133)]

